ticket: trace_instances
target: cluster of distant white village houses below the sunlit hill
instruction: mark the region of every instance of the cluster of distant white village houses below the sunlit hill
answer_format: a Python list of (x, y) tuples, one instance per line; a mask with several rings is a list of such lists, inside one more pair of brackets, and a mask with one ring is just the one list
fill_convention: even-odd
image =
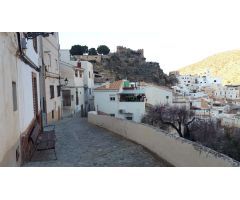
[(223, 85), (210, 69), (199, 75), (175, 74), (173, 102), (185, 104), (200, 118), (220, 120), (223, 126), (240, 128), (240, 85)]

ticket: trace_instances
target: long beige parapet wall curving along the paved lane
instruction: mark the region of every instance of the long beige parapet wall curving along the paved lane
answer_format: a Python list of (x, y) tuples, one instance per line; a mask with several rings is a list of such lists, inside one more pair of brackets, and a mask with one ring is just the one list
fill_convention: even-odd
[(88, 121), (143, 145), (173, 166), (240, 166), (239, 162), (226, 155), (145, 124), (97, 115), (94, 111), (88, 113)]

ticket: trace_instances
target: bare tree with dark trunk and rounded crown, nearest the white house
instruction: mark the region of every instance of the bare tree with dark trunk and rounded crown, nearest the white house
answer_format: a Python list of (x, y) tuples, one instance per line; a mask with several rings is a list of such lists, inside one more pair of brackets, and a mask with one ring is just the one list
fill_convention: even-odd
[(194, 113), (186, 107), (157, 105), (148, 109), (142, 122), (154, 126), (170, 126), (180, 137), (190, 137), (190, 124), (195, 120)]

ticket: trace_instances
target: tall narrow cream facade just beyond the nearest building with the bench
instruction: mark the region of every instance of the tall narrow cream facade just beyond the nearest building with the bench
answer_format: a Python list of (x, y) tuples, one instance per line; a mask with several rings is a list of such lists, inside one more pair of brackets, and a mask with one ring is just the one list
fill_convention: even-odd
[(61, 119), (61, 91), (59, 68), (59, 37), (54, 33), (41, 38), (41, 103), (43, 107), (43, 123), (48, 124)]

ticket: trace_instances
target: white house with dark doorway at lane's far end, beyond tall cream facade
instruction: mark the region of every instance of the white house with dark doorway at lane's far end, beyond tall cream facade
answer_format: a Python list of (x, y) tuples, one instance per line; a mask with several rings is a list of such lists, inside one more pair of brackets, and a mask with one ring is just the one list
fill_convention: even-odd
[(81, 63), (76, 66), (60, 61), (63, 117), (84, 115), (84, 85)]

